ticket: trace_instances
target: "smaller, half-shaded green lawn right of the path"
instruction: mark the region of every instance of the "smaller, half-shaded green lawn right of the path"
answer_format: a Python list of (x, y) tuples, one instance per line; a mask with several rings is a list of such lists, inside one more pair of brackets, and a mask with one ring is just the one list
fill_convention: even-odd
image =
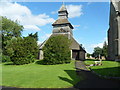
[[(85, 64), (94, 64), (94, 61), (93, 59), (88, 59)], [(100, 75), (120, 77), (120, 62), (103, 60), (101, 66), (92, 66), (90, 68)]]

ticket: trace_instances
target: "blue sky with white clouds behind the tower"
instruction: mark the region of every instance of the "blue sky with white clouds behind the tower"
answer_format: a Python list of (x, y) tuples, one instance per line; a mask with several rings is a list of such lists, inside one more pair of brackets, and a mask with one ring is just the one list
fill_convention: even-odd
[[(69, 21), (74, 26), (73, 37), (92, 53), (107, 40), (109, 2), (65, 2)], [(62, 2), (2, 2), (0, 15), (18, 20), (24, 26), (22, 36), (38, 32), (42, 43), (52, 34), (52, 23), (58, 18)]]

